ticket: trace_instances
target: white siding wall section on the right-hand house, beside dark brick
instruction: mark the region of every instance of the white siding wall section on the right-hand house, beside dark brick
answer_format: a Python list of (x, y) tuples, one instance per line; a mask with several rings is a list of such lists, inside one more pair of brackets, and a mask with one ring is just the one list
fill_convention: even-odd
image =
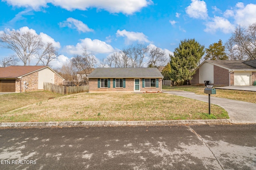
[(214, 84), (214, 65), (205, 62), (199, 68), (199, 83), (204, 84), (204, 81), (210, 81), (210, 84)]

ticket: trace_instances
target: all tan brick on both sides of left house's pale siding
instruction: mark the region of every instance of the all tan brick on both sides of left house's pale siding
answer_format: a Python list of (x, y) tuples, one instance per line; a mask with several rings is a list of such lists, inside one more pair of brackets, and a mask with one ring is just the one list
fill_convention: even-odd
[[(21, 82), (21, 84), (20, 84)], [(20, 80), (16, 80), (16, 88), (15, 92), (24, 92), (24, 82), (25, 84), (25, 92), (30, 92), (30, 91), (36, 91), (38, 90), (38, 71), (34, 72), (32, 74), (28, 74)], [(28, 83), (28, 85), (27, 85)], [(63, 79), (58, 76), (58, 74), (54, 73), (54, 84), (61, 85), (63, 84)], [(20, 90), (21, 89), (21, 90)]]

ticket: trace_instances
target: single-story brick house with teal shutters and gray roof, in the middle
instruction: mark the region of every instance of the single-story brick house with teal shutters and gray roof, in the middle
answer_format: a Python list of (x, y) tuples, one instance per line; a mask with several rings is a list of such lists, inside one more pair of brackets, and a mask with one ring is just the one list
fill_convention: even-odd
[(89, 92), (162, 92), (164, 78), (157, 68), (96, 68)]

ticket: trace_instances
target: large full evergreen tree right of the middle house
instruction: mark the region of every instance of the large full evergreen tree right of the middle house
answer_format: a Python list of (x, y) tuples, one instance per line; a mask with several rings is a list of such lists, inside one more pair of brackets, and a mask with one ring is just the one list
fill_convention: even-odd
[(180, 42), (179, 47), (170, 55), (171, 80), (173, 85), (183, 84), (185, 80), (191, 80), (204, 55), (204, 46), (195, 39), (185, 39)]

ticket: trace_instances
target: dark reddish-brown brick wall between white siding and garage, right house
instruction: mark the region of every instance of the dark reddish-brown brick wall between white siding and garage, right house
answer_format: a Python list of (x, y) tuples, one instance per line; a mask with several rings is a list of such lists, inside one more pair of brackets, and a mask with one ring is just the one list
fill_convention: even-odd
[(229, 71), (214, 65), (214, 85), (229, 86)]

